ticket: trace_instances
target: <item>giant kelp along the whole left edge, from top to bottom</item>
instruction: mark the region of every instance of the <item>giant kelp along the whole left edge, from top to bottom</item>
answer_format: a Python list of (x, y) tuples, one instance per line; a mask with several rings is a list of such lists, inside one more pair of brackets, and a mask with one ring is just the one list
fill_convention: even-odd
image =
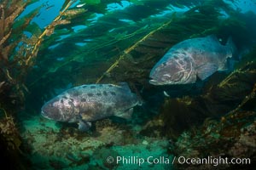
[[(18, 18), (26, 6), (34, 2), (0, 1), (1, 157), (3, 156), (8, 166), (13, 169), (25, 168), (20, 162), (22, 159), (19, 159), (21, 139), (13, 117), (23, 107), (25, 93), (29, 93), (25, 84), (27, 73), (34, 65), (44, 37), (52, 34), (55, 26), (68, 23), (68, 20), (63, 19), (62, 16), (73, 3), (73, 1), (64, 3), (59, 16), (42, 31), (35, 23), (31, 23), (40, 7)], [(68, 17), (71, 15), (67, 14)], [(10, 161), (16, 162), (17, 167), (13, 167), (14, 164)]]

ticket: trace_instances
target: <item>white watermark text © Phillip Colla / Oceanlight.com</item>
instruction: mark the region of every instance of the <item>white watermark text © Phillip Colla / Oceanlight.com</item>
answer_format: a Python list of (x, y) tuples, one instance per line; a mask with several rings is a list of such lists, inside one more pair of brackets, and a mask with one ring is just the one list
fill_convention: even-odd
[(123, 164), (123, 165), (138, 165), (139, 167), (143, 164), (187, 164), (187, 165), (201, 165), (209, 164), (214, 167), (222, 164), (237, 164), (237, 165), (248, 165), (251, 164), (250, 158), (228, 158), (228, 157), (212, 157), (207, 156), (204, 158), (189, 158), (185, 156), (174, 156), (172, 159), (165, 156), (148, 156), (147, 158), (139, 156), (108, 156), (106, 159), (108, 163)]

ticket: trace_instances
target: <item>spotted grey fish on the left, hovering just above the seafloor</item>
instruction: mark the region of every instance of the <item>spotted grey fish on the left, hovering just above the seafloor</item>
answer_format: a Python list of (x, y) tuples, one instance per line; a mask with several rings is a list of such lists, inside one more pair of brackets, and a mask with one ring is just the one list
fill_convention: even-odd
[(133, 107), (140, 105), (127, 83), (90, 84), (68, 89), (42, 107), (42, 115), (60, 122), (78, 122), (79, 129), (88, 130), (90, 122), (119, 116), (129, 119)]

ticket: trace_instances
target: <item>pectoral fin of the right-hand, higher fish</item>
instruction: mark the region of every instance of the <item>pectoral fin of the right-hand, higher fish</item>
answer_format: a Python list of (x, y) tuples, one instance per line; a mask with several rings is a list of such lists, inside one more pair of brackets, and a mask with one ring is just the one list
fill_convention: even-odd
[(207, 63), (197, 68), (197, 77), (199, 77), (201, 80), (205, 80), (216, 71), (218, 71), (218, 65)]

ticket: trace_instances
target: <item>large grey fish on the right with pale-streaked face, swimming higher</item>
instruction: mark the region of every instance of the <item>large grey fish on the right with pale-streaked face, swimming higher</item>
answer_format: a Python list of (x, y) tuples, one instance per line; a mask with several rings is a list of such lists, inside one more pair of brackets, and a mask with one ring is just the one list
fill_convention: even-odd
[(205, 80), (215, 71), (227, 70), (227, 59), (235, 53), (231, 38), (222, 45), (217, 37), (188, 39), (174, 45), (150, 72), (154, 85), (188, 84)]

